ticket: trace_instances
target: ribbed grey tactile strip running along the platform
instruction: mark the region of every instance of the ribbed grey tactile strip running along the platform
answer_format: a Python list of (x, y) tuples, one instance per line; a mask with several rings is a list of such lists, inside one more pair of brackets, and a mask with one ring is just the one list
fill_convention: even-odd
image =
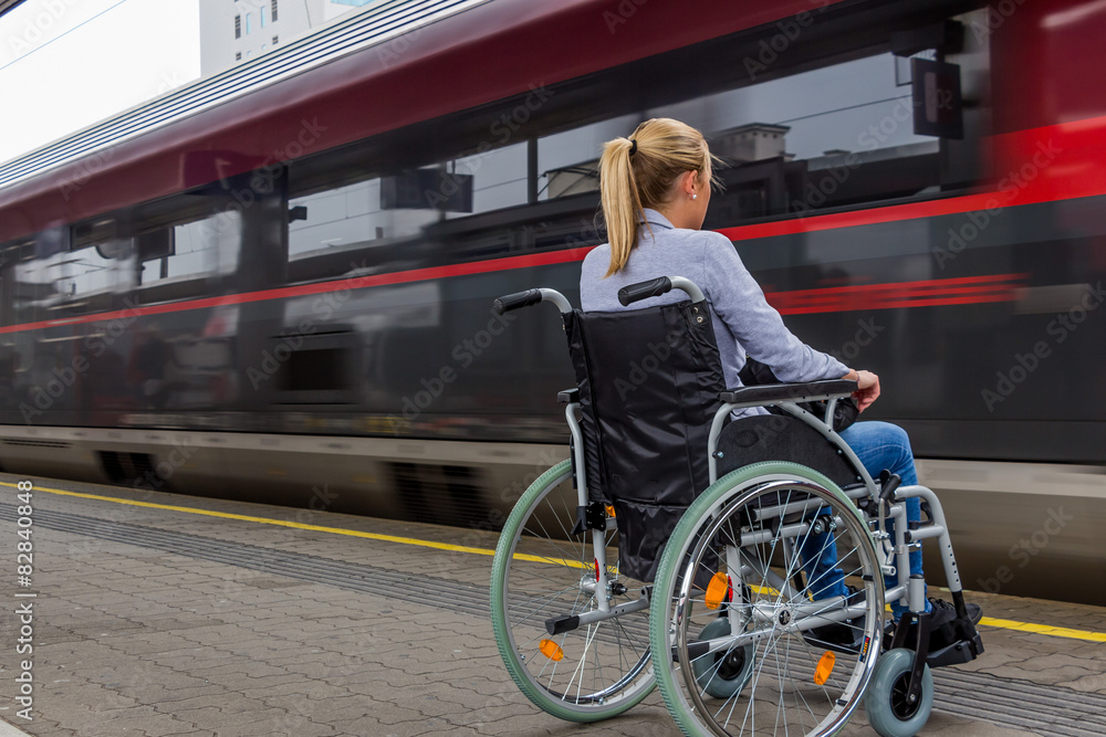
[[(0, 504), (0, 519), (14, 522), (15, 518), (13, 506)], [(46, 509), (35, 509), (34, 522), (35, 525), (74, 535), (86, 535), (481, 617), (489, 615), (489, 593), (486, 587), (465, 585), (450, 579), (416, 576), (302, 552), (289, 552)], [(448, 601), (427, 596), (427, 591), (441, 591), (447, 588), (451, 593)], [(1106, 719), (1103, 717), (1106, 714), (1106, 696), (951, 668), (936, 671), (933, 684), (933, 705), (942, 712), (1046, 737), (1106, 735)]]

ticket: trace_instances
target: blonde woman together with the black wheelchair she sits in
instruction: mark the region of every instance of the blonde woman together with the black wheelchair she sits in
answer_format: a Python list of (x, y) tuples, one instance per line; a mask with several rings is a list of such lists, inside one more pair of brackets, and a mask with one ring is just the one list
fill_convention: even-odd
[[(557, 398), (570, 459), (521, 496), (492, 561), (508, 671), (575, 722), (659, 685), (687, 735), (826, 737), (862, 702), (883, 737), (916, 734), (930, 668), (983, 652), (980, 610), (906, 433), (852, 422), (879, 378), (799, 340), (700, 230), (699, 131), (643, 123), (599, 173), (609, 243), (584, 260), (583, 308), (547, 288), (494, 305), (555, 305), (577, 382)], [(926, 539), (951, 603), (926, 596)]]

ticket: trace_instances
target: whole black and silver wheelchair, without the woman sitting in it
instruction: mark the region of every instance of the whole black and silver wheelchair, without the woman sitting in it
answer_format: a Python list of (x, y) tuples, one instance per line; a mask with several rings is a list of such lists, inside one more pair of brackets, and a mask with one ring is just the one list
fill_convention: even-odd
[[(659, 685), (686, 735), (833, 735), (862, 703), (884, 737), (916, 734), (932, 707), (930, 668), (983, 652), (937, 496), (888, 472), (873, 478), (834, 430), (855, 382), (727, 390), (691, 281), (618, 297), (672, 288), (688, 299), (617, 313), (575, 310), (545, 288), (495, 301), (500, 313), (555, 305), (577, 379), (559, 396), (570, 457), (522, 495), (493, 559), (508, 671), (573, 722), (619, 715)], [(731, 421), (751, 407), (774, 413)], [(921, 524), (907, 523), (910, 497)], [(957, 613), (939, 650), (926, 582), (909, 573), (926, 539), (940, 547)], [(909, 611), (885, 629), (891, 602)]]

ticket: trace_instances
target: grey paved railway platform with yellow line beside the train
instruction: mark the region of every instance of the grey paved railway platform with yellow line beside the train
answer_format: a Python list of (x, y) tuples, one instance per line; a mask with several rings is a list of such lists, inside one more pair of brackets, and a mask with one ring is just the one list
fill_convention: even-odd
[[(526, 701), (489, 621), (494, 533), (0, 484), (0, 735), (678, 734), (659, 693), (588, 726)], [(935, 672), (925, 734), (1106, 735), (1106, 609), (969, 599), (987, 653)]]

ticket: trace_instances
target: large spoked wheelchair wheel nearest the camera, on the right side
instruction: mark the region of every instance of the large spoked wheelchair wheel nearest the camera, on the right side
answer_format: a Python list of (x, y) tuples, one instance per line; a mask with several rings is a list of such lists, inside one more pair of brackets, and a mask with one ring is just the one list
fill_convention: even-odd
[[(696, 499), (661, 558), (650, 641), (665, 703), (686, 735), (835, 734), (872, 677), (883, 610), (867, 525), (833, 482), (793, 463), (739, 468)], [(710, 688), (701, 661), (738, 651), (748, 683)]]

